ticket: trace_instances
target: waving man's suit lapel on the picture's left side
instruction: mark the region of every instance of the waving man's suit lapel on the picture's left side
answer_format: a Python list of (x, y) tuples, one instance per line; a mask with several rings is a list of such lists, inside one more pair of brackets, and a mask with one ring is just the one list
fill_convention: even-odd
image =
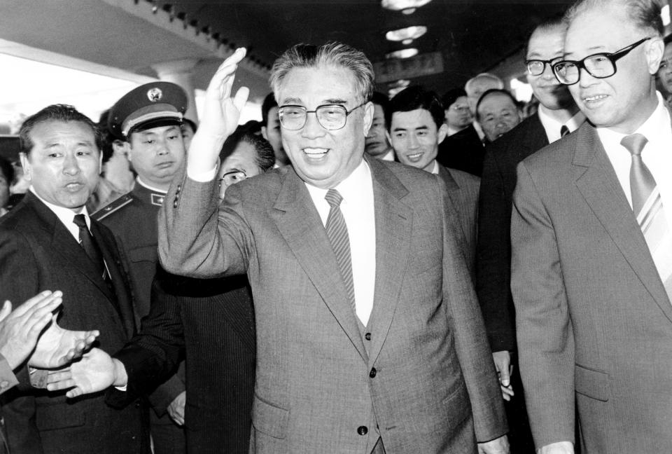
[(287, 245), (366, 361), (362, 335), (345, 286), (339, 277), (335, 254), (310, 194), (293, 170), (288, 170), (285, 174), (274, 209), (271, 216)]

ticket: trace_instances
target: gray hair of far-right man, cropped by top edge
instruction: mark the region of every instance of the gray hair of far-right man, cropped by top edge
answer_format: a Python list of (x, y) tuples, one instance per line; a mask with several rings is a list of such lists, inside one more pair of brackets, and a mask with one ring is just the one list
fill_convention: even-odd
[(579, 0), (565, 13), (565, 20), (570, 24), (577, 15), (593, 8), (625, 8), (633, 25), (640, 29), (663, 36), (665, 27), (660, 17), (663, 4), (660, 0)]

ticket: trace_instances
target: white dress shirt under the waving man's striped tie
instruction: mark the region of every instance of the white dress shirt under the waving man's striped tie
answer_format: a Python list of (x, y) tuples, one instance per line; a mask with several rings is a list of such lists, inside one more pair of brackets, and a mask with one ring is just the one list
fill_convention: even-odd
[[(326, 189), (305, 184), (310, 197), (326, 225), (330, 206)], [(365, 160), (335, 189), (342, 195), (340, 208), (348, 227), (352, 280), (355, 287), (357, 316), (366, 326), (373, 309), (376, 284), (376, 222), (373, 204), (373, 179)], [(337, 272), (337, 270), (335, 270)]]

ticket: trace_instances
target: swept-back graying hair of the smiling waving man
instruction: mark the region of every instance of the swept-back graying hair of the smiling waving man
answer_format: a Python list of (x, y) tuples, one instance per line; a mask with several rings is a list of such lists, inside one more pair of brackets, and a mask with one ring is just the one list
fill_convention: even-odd
[(352, 71), (357, 81), (361, 102), (371, 99), (373, 93), (373, 65), (363, 52), (337, 41), (323, 46), (297, 44), (285, 51), (273, 64), (269, 84), (276, 99), (280, 85), (293, 68), (342, 67)]

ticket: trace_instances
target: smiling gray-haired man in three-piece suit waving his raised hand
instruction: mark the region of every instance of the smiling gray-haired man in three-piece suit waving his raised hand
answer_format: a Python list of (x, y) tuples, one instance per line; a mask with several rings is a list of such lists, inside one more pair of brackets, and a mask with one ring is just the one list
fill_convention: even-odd
[(244, 55), (211, 81), (209, 115), (160, 215), (160, 257), (172, 272), (249, 277), (251, 452), (476, 453), (477, 441), (507, 452), (444, 185), (364, 157), (373, 71), (363, 53), (297, 45), (275, 62), (292, 166), (230, 186), (219, 206), (217, 153), (246, 101), (246, 90), (230, 97)]

